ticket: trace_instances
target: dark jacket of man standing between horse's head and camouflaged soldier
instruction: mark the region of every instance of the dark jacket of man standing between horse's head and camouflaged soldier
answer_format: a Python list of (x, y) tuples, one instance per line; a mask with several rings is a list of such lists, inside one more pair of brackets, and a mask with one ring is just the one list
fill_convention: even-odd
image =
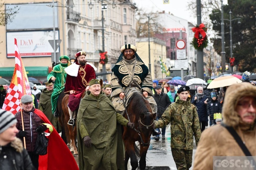
[(157, 103), (157, 116), (161, 117), (165, 109), (171, 104), (170, 98), (163, 92), (160, 95), (155, 93), (153, 97)]

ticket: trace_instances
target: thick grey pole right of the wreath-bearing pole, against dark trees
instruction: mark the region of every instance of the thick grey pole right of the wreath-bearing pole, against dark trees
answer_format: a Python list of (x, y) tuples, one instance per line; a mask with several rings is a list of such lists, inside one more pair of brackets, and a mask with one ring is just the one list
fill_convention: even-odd
[(221, 72), (224, 73), (226, 69), (226, 52), (224, 40), (224, 14), (223, 14), (223, 0), (221, 0)]

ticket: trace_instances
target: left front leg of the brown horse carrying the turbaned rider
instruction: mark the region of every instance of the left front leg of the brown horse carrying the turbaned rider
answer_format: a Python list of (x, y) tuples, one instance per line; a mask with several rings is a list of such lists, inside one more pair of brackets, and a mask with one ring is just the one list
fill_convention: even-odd
[[(132, 141), (125, 141), (125, 159), (126, 159), (126, 154), (128, 154), (131, 158), (131, 166), (132, 166), (132, 170), (136, 170), (136, 168), (138, 167), (138, 160), (135, 154), (135, 150), (134, 150), (134, 145), (135, 143)], [(129, 158), (128, 158), (129, 159)], [(127, 168), (127, 166), (126, 166)]]

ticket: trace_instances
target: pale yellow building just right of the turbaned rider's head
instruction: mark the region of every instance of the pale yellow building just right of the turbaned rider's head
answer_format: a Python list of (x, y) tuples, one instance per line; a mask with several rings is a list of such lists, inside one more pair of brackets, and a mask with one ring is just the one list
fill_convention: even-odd
[(158, 38), (150, 38), (150, 64), (149, 66), (149, 42), (148, 38), (138, 38), (136, 40), (137, 54), (142, 61), (151, 70), (152, 79), (162, 79), (166, 77), (165, 73), (162, 73), (160, 65), (160, 57), (166, 64), (166, 45), (163, 40)]

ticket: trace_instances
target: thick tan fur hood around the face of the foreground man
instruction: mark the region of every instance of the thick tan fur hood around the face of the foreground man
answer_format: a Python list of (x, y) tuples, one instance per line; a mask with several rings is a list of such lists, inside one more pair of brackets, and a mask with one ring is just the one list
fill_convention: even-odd
[[(256, 87), (251, 83), (238, 83), (227, 88), (222, 108), (223, 123), (228, 126), (237, 127), (241, 122), (241, 118), (236, 111), (238, 101), (244, 96), (252, 96), (256, 98)], [(254, 127), (256, 121), (254, 122)]]

